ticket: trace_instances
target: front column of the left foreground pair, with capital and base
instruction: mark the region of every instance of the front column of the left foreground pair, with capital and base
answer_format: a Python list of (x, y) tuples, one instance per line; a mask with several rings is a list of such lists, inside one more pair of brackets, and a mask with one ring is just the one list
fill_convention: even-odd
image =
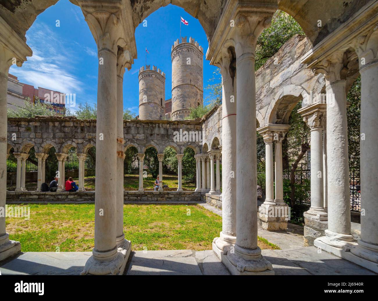
[(95, 247), (82, 274), (122, 274), (127, 251), (117, 246), (117, 59), (119, 47), (125, 47), (125, 41), (129, 40), (125, 36), (125, 23), (120, 19), (125, 18), (126, 12), (120, 3), (95, 6), (87, 1), (78, 2), (96, 40), (99, 58)]

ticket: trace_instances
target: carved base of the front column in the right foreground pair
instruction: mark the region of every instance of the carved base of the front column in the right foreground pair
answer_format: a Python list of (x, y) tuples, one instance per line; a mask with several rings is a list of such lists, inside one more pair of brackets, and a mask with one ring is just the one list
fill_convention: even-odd
[(272, 264), (261, 255), (261, 249), (249, 250), (235, 245), (234, 253), (223, 251), (222, 262), (232, 275), (274, 275)]

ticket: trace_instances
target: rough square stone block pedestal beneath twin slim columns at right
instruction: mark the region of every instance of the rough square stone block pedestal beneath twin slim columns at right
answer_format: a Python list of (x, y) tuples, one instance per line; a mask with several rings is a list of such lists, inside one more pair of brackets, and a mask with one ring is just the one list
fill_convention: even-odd
[(287, 230), (287, 221), (290, 220), (288, 205), (266, 205), (259, 207), (257, 225), (268, 231)]

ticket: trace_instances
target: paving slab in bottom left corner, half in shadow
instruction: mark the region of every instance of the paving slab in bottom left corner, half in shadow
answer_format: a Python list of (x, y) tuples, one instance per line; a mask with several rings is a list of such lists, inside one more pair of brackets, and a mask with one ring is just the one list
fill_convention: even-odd
[(80, 275), (92, 252), (26, 252), (0, 267), (2, 275)]

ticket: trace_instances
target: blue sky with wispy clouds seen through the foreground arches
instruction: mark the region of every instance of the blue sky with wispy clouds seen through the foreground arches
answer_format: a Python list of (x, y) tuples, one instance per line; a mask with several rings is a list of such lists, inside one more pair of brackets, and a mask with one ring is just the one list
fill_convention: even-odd
[[(172, 64), (170, 51), (180, 35), (180, 16), (189, 22), (181, 26), (181, 36), (194, 37), (208, 49), (206, 34), (200, 22), (182, 8), (168, 5), (147, 17), (147, 27), (140, 24), (135, 31), (138, 59), (130, 71), (124, 75), (124, 107), (138, 114), (138, 70), (145, 63), (156, 65), (166, 74), (166, 99), (171, 98)], [(56, 26), (60, 21), (60, 27)], [(60, 0), (56, 5), (40, 14), (26, 32), (27, 43), (33, 56), (21, 68), (11, 66), (9, 73), (20, 82), (34, 87), (48, 88), (62, 93), (76, 93), (76, 107), (79, 103), (91, 105), (97, 101), (98, 58), (95, 40), (78, 6), (68, 0)], [(204, 59), (204, 87), (212, 77), (215, 66)], [(204, 90), (204, 99), (208, 96)], [(76, 107), (70, 108), (75, 111)]]

